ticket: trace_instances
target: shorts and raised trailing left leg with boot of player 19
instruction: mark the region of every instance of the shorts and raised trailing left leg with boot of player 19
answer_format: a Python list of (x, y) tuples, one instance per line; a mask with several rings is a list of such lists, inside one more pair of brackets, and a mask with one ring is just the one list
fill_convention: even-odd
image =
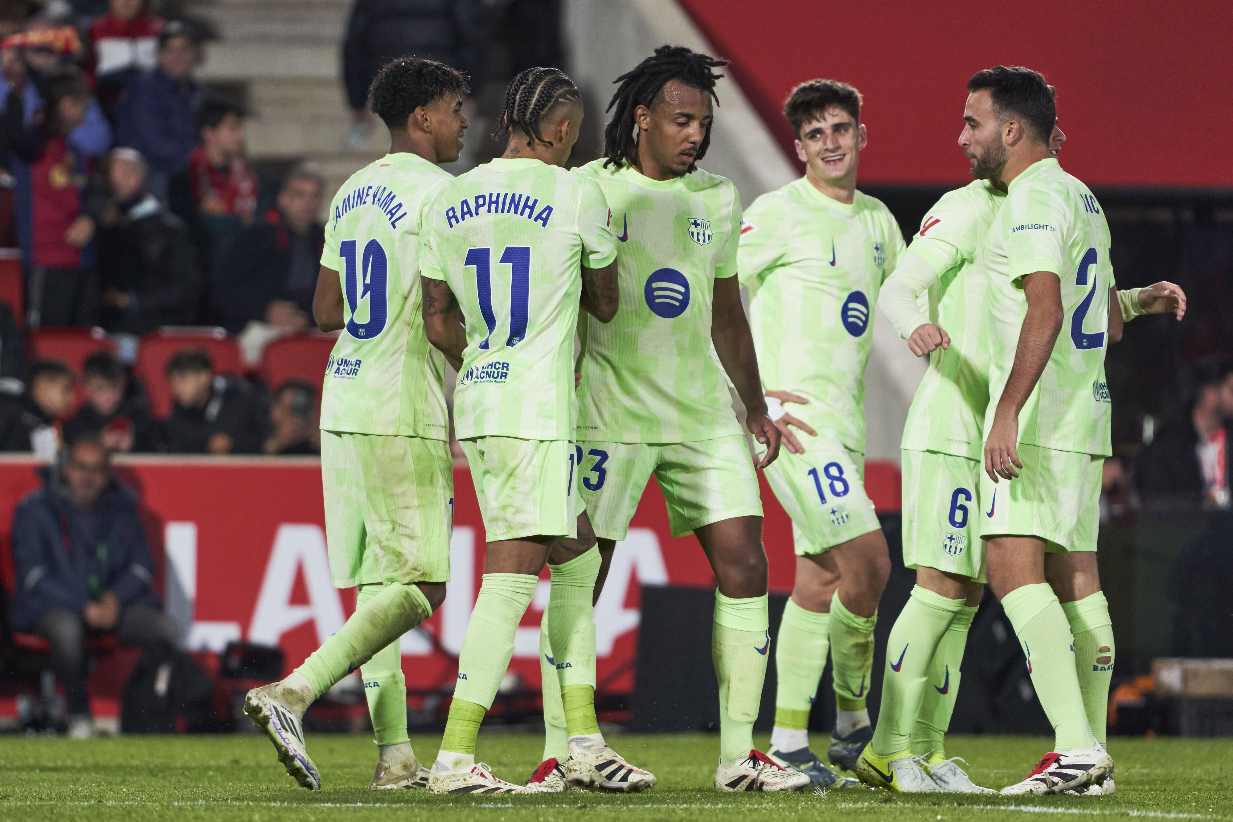
[[(385, 584), (290, 675), (249, 691), (244, 707), (274, 742), (287, 773), (309, 789), (321, 786), (321, 776), (305, 744), (305, 710), (432, 616), (445, 599), (454, 487), (445, 442), (326, 434), (322, 478), (334, 582), (351, 585), (383, 578)], [(339, 503), (349, 509), (340, 510)], [(363, 530), (355, 524), (355, 510), (363, 513)], [(358, 578), (366, 573), (369, 551), (376, 556), (376, 579)], [(418, 770), (418, 764), (408, 770)]]

